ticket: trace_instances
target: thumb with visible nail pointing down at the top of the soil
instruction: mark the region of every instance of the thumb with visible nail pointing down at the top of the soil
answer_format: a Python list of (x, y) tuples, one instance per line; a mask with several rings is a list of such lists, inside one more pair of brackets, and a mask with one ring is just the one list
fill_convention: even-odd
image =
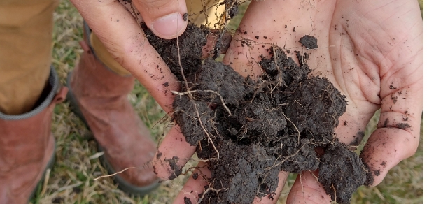
[(172, 39), (181, 36), (187, 27), (185, 0), (137, 0), (134, 6), (156, 36)]

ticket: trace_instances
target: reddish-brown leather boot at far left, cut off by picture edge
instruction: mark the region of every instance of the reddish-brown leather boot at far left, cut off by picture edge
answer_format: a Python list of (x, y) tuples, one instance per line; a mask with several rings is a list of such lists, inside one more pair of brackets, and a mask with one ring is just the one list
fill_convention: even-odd
[[(58, 92), (59, 90), (59, 92)], [(22, 115), (0, 112), (0, 203), (24, 204), (34, 196), (45, 170), (55, 161), (55, 138), (50, 132), (55, 104), (64, 101), (51, 68), (46, 93), (39, 105)]]

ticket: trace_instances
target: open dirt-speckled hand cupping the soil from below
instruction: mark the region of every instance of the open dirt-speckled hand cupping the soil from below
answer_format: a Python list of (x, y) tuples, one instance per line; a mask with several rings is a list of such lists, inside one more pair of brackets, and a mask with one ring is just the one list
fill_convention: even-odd
[[(317, 49), (298, 43), (307, 34), (318, 39)], [(246, 46), (242, 39), (258, 43)], [(360, 155), (374, 179), (370, 186), (416, 152), (423, 108), (423, 22), (417, 1), (252, 1), (223, 62), (255, 77), (262, 73), (259, 56), (268, 55), (262, 45), (271, 43), (310, 54), (311, 75), (325, 76), (346, 96), (348, 106), (335, 129), (343, 143), (359, 145), (381, 108), (377, 130)], [(176, 177), (194, 152), (173, 128), (155, 157), (156, 173), (162, 179)], [(172, 158), (179, 158), (174, 169), (165, 162)], [(199, 166), (195, 171), (209, 176), (206, 164)], [(279, 174), (282, 185), (274, 201), (254, 202), (275, 203), (287, 175)], [(196, 203), (205, 185), (190, 177), (175, 203), (184, 203), (184, 197)], [(329, 202), (315, 172), (300, 174), (288, 195), (288, 203)]]

